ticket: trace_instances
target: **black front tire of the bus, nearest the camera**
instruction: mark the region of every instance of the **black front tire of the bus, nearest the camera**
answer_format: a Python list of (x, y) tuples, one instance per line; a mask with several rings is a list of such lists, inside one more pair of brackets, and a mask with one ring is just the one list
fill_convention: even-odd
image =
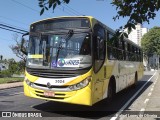
[(112, 77), (108, 85), (107, 103), (111, 102), (116, 93), (116, 83), (115, 79)]

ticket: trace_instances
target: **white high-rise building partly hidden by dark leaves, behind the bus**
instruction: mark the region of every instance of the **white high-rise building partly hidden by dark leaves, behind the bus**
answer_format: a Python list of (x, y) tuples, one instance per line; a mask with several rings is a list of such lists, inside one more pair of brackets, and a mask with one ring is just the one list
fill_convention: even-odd
[(142, 36), (149, 31), (148, 28), (143, 28), (141, 24), (137, 24), (136, 29), (132, 29), (131, 33), (128, 35), (128, 38), (134, 43), (141, 46)]

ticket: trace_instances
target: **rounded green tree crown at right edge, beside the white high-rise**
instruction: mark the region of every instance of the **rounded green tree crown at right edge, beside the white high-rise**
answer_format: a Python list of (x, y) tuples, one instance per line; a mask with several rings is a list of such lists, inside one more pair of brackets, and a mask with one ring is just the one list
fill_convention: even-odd
[(150, 57), (154, 53), (160, 55), (160, 28), (154, 27), (150, 29), (150, 31), (142, 37), (141, 45), (146, 57)]

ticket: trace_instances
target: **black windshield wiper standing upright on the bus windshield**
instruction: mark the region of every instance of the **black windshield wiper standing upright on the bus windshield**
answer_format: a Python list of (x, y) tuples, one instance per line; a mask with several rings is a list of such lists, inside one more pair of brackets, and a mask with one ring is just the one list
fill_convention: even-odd
[[(74, 31), (73, 30), (69, 30), (64, 40), (67, 42), (73, 36), (73, 34), (74, 34)], [(57, 51), (57, 54), (56, 54), (56, 63), (58, 61), (59, 52), (62, 49), (63, 43), (64, 42), (61, 39), (61, 41), (59, 43), (59, 46), (58, 46), (58, 51)]]

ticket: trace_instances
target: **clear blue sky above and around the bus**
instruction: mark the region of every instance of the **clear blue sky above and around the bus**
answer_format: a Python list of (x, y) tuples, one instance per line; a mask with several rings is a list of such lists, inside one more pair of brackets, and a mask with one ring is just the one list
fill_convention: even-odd
[[(112, 6), (112, 0), (70, 0), (70, 3), (57, 7), (54, 12), (52, 9), (45, 11), (40, 16), (40, 7), (38, 0), (1, 0), (0, 4), (0, 24), (11, 25), (16, 28), (29, 30), (31, 23), (38, 20), (58, 17), (58, 16), (75, 16), (86, 15), (93, 16), (113, 30), (118, 29), (120, 26), (125, 25), (127, 18), (120, 18), (114, 21), (113, 17), (116, 15), (116, 9)], [(76, 12), (75, 12), (76, 11)], [(160, 12), (150, 24), (144, 23), (143, 27), (152, 28), (160, 26)], [(0, 28), (0, 55), (4, 59), (14, 58), (16, 61), (20, 59), (13, 54), (10, 47), (15, 45), (13, 39), (14, 32), (6, 31)], [(18, 39), (21, 39), (21, 34), (18, 34)]]

